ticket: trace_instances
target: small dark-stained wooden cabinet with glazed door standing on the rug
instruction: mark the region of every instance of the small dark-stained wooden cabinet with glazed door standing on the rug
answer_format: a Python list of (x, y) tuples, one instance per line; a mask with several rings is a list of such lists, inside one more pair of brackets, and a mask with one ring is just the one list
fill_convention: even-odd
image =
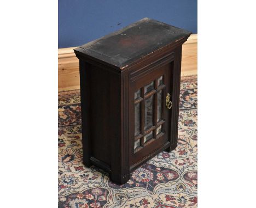
[(86, 166), (122, 184), (176, 148), (182, 44), (190, 34), (145, 18), (75, 48)]

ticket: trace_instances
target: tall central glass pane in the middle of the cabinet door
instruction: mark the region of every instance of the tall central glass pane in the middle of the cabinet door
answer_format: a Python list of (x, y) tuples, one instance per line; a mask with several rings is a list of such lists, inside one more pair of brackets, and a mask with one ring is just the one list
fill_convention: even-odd
[(154, 109), (153, 98), (154, 98), (154, 95), (145, 99), (144, 130), (147, 130), (153, 126), (153, 109)]

